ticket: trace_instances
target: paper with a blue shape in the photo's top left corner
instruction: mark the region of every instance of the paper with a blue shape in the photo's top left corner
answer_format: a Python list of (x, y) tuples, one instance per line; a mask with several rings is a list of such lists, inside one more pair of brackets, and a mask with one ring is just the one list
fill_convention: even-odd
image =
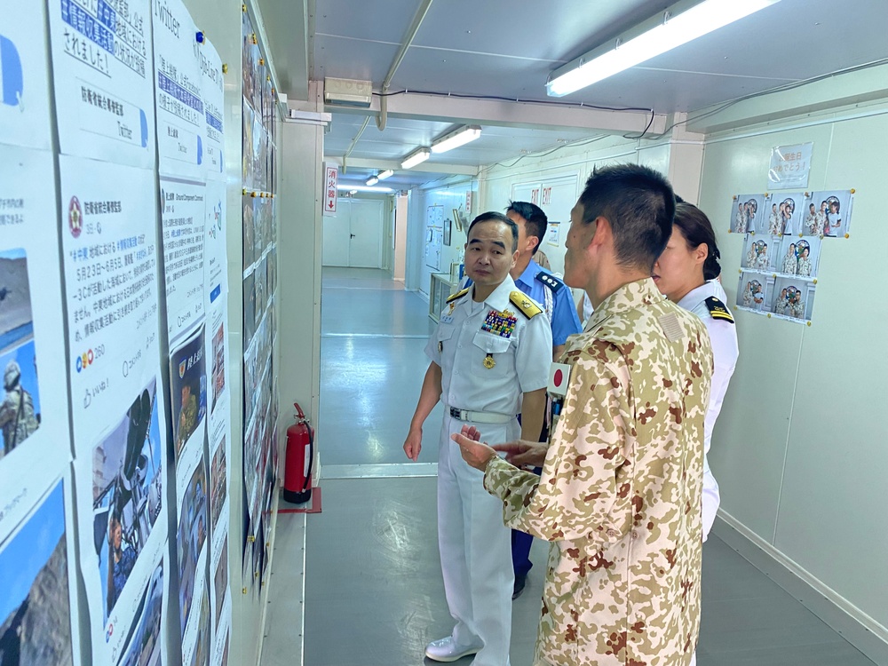
[(51, 147), (45, 3), (0, 0), (0, 143)]

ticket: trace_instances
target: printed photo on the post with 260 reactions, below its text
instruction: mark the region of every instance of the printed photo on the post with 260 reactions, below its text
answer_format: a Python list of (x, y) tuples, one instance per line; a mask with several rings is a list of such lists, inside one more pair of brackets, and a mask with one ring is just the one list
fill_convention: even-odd
[(92, 452), (93, 535), (105, 620), (115, 607), (163, 505), (155, 381)]

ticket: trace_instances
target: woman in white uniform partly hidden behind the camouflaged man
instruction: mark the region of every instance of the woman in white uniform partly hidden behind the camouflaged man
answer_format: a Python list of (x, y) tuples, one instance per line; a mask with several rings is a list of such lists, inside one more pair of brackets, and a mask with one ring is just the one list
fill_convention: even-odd
[[(721, 411), (725, 392), (737, 365), (740, 350), (733, 315), (721, 300), (724, 290), (718, 283), (716, 234), (709, 218), (690, 203), (678, 203), (672, 235), (666, 250), (654, 264), (654, 281), (673, 303), (696, 314), (706, 325), (712, 342), (715, 370), (712, 374), (710, 406), (703, 428), (703, 541), (710, 533), (718, 511), (718, 483), (706, 459), (712, 427)], [(694, 663), (694, 662), (692, 662)]]

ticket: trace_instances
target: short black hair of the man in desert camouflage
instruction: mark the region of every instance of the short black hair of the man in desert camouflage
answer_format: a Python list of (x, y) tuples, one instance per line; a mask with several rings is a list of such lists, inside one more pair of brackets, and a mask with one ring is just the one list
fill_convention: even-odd
[(675, 194), (660, 173), (638, 164), (592, 171), (583, 194), (583, 224), (607, 218), (621, 266), (650, 272), (672, 234)]

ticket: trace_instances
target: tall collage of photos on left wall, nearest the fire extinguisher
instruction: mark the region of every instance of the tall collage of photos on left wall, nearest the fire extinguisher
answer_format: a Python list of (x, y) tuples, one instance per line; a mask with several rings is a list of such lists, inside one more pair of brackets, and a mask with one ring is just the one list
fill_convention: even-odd
[[(242, 14), (243, 588), (266, 576), (267, 516), (277, 479), (277, 94), (247, 12)], [(221, 566), (216, 581), (227, 579)]]

